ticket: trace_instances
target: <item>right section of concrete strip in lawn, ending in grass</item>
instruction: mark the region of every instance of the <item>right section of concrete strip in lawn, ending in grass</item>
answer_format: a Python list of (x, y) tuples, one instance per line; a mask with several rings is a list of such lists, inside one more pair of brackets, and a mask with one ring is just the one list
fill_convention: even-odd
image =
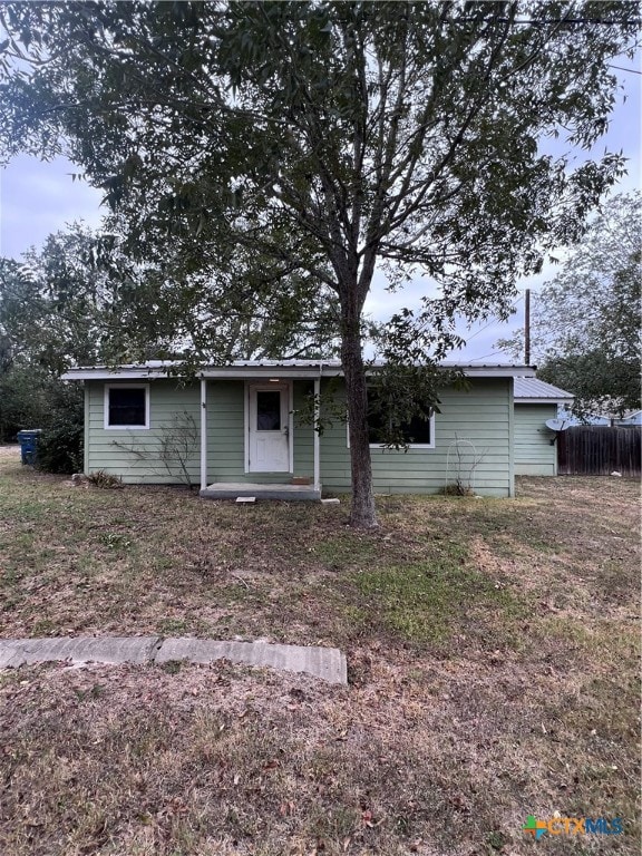
[(337, 648), (278, 645), (268, 642), (215, 642), (207, 639), (166, 639), (156, 654), (157, 663), (214, 660), (268, 665), (282, 672), (307, 672), (330, 683), (348, 683), (346, 654)]

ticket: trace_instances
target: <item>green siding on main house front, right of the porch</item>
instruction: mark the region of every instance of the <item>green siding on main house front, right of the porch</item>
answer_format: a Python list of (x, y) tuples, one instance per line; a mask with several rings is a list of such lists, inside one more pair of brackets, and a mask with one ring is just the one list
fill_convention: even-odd
[[(371, 449), (374, 490), (379, 494), (432, 494), (456, 478), (457, 441), (461, 470), (469, 470), (470, 455), (480, 458), (471, 485), (478, 494), (513, 496), (512, 385), (508, 378), (476, 379), (468, 391), (444, 389), (440, 414), (435, 417), (434, 449)], [(321, 437), (321, 481), (327, 490), (350, 489), (350, 450), (344, 425), (335, 424)]]

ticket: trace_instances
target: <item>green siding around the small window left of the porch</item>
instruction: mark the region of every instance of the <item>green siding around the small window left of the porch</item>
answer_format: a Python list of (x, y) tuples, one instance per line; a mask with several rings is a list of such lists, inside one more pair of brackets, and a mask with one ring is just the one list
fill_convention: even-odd
[[(198, 383), (181, 385), (175, 380), (155, 380), (149, 383), (149, 429), (105, 429), (105, 387), (115, 381), (89, 382), (86, 428), (88, 442), (85, 451), (86, 473), (104, 469), (120, 476), (126, 483), (181, 483), (178, 459), (160, 457), (160, 442), (166, 427), (176, 415), (188, 414), (200, 430)], [(127, 386), (126, 383), (124, 386)], [(198, 437), (186, 449), (185, 461), (192, 483), (200, 484)], [(183, 456), (182, 456), (183, 457)]]

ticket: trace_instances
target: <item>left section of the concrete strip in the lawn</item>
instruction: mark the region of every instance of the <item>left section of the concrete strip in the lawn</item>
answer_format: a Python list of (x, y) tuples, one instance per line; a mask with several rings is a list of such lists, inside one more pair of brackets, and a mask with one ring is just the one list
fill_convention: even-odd
[(79, 636), (68, 639), (0, 640), (0, 669), (69, 660), (82, 663), (146, 663), (160, 645), (160, 636)]

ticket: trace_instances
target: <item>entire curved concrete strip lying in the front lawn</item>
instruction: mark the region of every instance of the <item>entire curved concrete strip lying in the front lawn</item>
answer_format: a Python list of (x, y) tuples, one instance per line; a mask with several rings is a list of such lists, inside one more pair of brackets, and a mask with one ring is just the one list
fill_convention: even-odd
[(337, 648), (188, 638), (163, 640), (160, 636), (0, 639), (0, 669), (59, 660), (81, 665), (90, 662), (166, 663), (171, 660), (211, 663), (222, 659), (233, 663), (268, 665), (278, 671), (305, 672), (329, 683), (348, 683), (346, 654)]

